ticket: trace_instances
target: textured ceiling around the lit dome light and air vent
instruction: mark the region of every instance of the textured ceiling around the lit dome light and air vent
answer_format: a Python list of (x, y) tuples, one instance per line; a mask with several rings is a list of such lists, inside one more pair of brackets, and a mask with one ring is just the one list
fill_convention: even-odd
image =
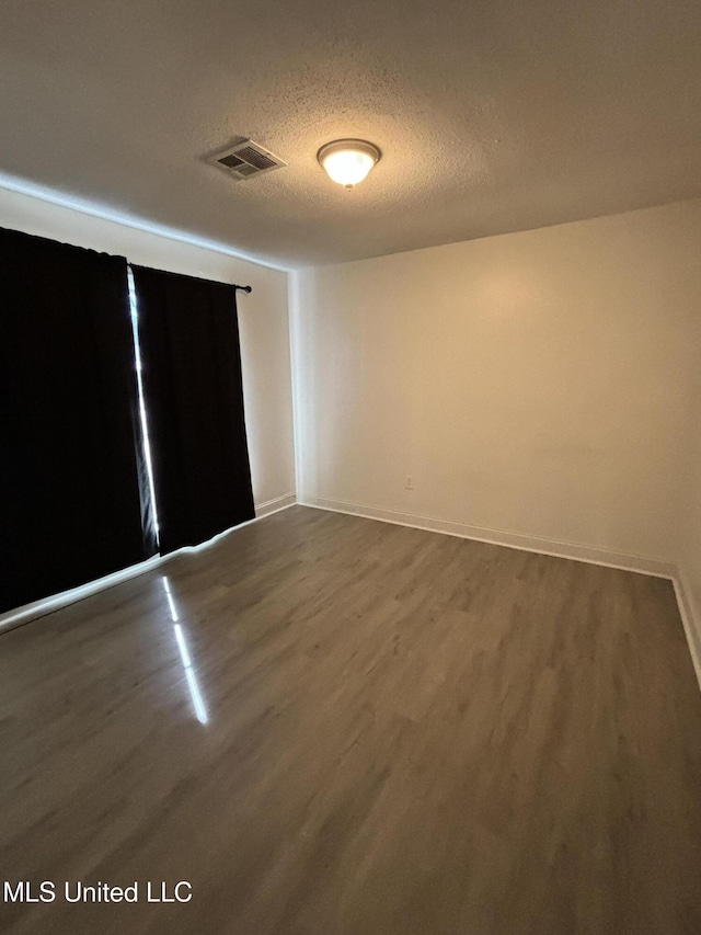
[[(360, 259), (701, 196), (700, 58), (699, 0), (3, 0), (0, 171)], [(249, 136), (288, 168), (205, 161)], [(350, 193), (315, 159), (341, 136), (383, 152)]]

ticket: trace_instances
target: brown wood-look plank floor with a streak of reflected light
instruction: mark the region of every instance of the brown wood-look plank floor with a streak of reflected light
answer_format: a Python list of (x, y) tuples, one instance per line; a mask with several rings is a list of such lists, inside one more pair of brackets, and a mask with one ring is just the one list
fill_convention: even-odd
[(1, 635), (0, 751), (3, 933), (701, 933), (668, 581), (296, 506)]

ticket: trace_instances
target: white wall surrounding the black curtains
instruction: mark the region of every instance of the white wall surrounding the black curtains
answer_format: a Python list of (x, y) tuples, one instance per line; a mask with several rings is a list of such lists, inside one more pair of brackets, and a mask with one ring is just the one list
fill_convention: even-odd
[[(232, 225), (235, 220), (232, 219)], [(295, 493), (287, 274), (0, 189), (0, 226), (223, 283), (238, 294), (246, 433), (256, 506)]]

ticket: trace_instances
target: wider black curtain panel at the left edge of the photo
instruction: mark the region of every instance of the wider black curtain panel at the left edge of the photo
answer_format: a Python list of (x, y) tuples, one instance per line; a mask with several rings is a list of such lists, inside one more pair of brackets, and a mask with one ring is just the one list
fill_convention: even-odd
[(0, 229), (0, 611), (147, 557), (126, 274)]

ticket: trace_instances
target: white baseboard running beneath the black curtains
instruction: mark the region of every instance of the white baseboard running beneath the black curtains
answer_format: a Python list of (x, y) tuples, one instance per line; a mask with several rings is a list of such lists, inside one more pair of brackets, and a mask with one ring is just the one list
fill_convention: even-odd
[(106, 591), (108, 588), (114, 588), (115, 584), (120, 584), (123, 581), (128, 581), (130, 578), (137, 578), (139, 574), (146, 574), (147, 571), (153, 571), (156, 568), (159, 568), (159, 566), (170, 561), (170, 559), (177, 555), (208, 548), (223, 536), (228, 536), (230, 533), (243, 528), (243, 526), (250, 526), (251, 523), (256, 523), (258, 520), (262, 520), (265, 516), (271, 516), (273, 513), (279, 513), (280, 510), (287, 510), (289, 506), (294, 506), (295, 503), (297, 503), (297, 498), (294, 493), (286, 493), (284, 497), (276, 497), (274, 500), (267, 500), (265, 503), (256, 505), (256, 515), (254, 520), (249, 520), (246, 523), (240, 523), (238, 526), (233, 526), (231, 529), (227, 529), (218, 536), (215, 536), (212, 539), (203, 543), (202, 546), (187, 546), (165, 556), (154, 556), (153, 558), (148, 559), (148, 561), (139, 562), (139, 565), (133, 565), (129, 568), (122, 569), (120, 571), (115, 571), (113, 574), (99, 578), (96, 581), (90, 581), (88, 584), (81, 584), (80, 588), (71, 588), (70, 591), (62, 591), (60, 594), (54, 594), (50, 597), (44, 597), (42, 601), (34, 601), (31, 604), (24, 604), (22, 607), (15, 607), (13, 611), (7, 611), (4, 614), (0, 614), (0, 634), (3, 630), (14, 629), (14, 627), (22, 626), (22, 624), (35, 620), (38, 617), (45, 617), (47, 614), (54, 613), (54, 611), (58, 611), (69, 604), (74, 604), (77, 601), (83, 601), (85, 597), (90, 597), (99, 591)]

